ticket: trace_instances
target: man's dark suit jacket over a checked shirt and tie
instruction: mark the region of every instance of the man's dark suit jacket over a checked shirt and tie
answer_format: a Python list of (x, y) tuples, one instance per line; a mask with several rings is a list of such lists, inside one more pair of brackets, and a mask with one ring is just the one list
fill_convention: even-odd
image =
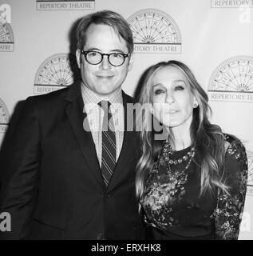
[[(132, 98), (123, 92), (123, 102)], [(3, 149), (1, 212), (20, 239), (141, 239), (135, 197), (136, 132), (125, 131), (106, 188), (92, 134), (83, 129), (80, 83), (26, 99)], [(125, 125), (126, 125), (125, 114)]]

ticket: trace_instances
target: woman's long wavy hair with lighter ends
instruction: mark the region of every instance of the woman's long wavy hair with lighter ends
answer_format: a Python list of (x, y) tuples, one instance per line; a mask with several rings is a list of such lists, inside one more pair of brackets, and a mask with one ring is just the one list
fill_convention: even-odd
[[(192, 94), (195, 96), (198, 106), (193, 109), (191, 139), (192, 146), (201, 152), (200, 165), (200, 196), (205, 192), (215, 194), (215, 190), (220, 188), (228, 193), (228, 187), (223, 180), (223, 162), (225, 155), (224, 136), (219, 126), (211, 124), (208, 115), (211, 114), (211, 108), (208, 105), (208, 94), (202, 89), (196, 81), (192, 71), (182, 62), (169, 61), (159, 62), (151, 66), (145, 72), (144, 81), (140, 90), (140, 104), (152, 104), (152, 78), (157, 70), (166, 66), (174, 66), (183, 72), (188, 79)], [(142, 113), (142, 129), (139, 132), (141, 157), (136, 166), (136, 196), (140, 200), (144, 193), (144, 183), (148, 174), (156, 162), (162, 143), (155, 140), (155, 131), (148, 130), (151, 115)], [(170, 136), (170, 135), (168, 135)], [(170, 138), (172, 139), (172, 138)]]

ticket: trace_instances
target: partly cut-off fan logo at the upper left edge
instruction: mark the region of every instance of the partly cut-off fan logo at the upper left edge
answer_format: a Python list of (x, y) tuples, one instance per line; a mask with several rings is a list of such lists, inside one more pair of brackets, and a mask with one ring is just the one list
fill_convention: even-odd
[(9, 23), (0, 21), (0, 51), (14, 51), (14, 33)]

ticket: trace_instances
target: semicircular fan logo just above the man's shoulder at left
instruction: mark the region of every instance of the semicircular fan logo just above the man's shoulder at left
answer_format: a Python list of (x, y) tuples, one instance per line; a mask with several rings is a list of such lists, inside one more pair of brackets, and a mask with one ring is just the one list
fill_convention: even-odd
[(71, 54), (54, 54), (38, 68), (34, 94), (47, 94), (73, 84), (80, 79), (76, 58)]

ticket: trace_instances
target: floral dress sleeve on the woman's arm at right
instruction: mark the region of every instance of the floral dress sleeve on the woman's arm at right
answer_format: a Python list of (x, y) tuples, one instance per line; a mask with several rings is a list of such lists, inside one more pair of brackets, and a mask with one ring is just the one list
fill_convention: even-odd
[(215, 239), (236, 240), (247, 190), (247, 154), (238, 139), (229, 142), (225, 155), (224, 182), (229, 194), (218, 190)]

